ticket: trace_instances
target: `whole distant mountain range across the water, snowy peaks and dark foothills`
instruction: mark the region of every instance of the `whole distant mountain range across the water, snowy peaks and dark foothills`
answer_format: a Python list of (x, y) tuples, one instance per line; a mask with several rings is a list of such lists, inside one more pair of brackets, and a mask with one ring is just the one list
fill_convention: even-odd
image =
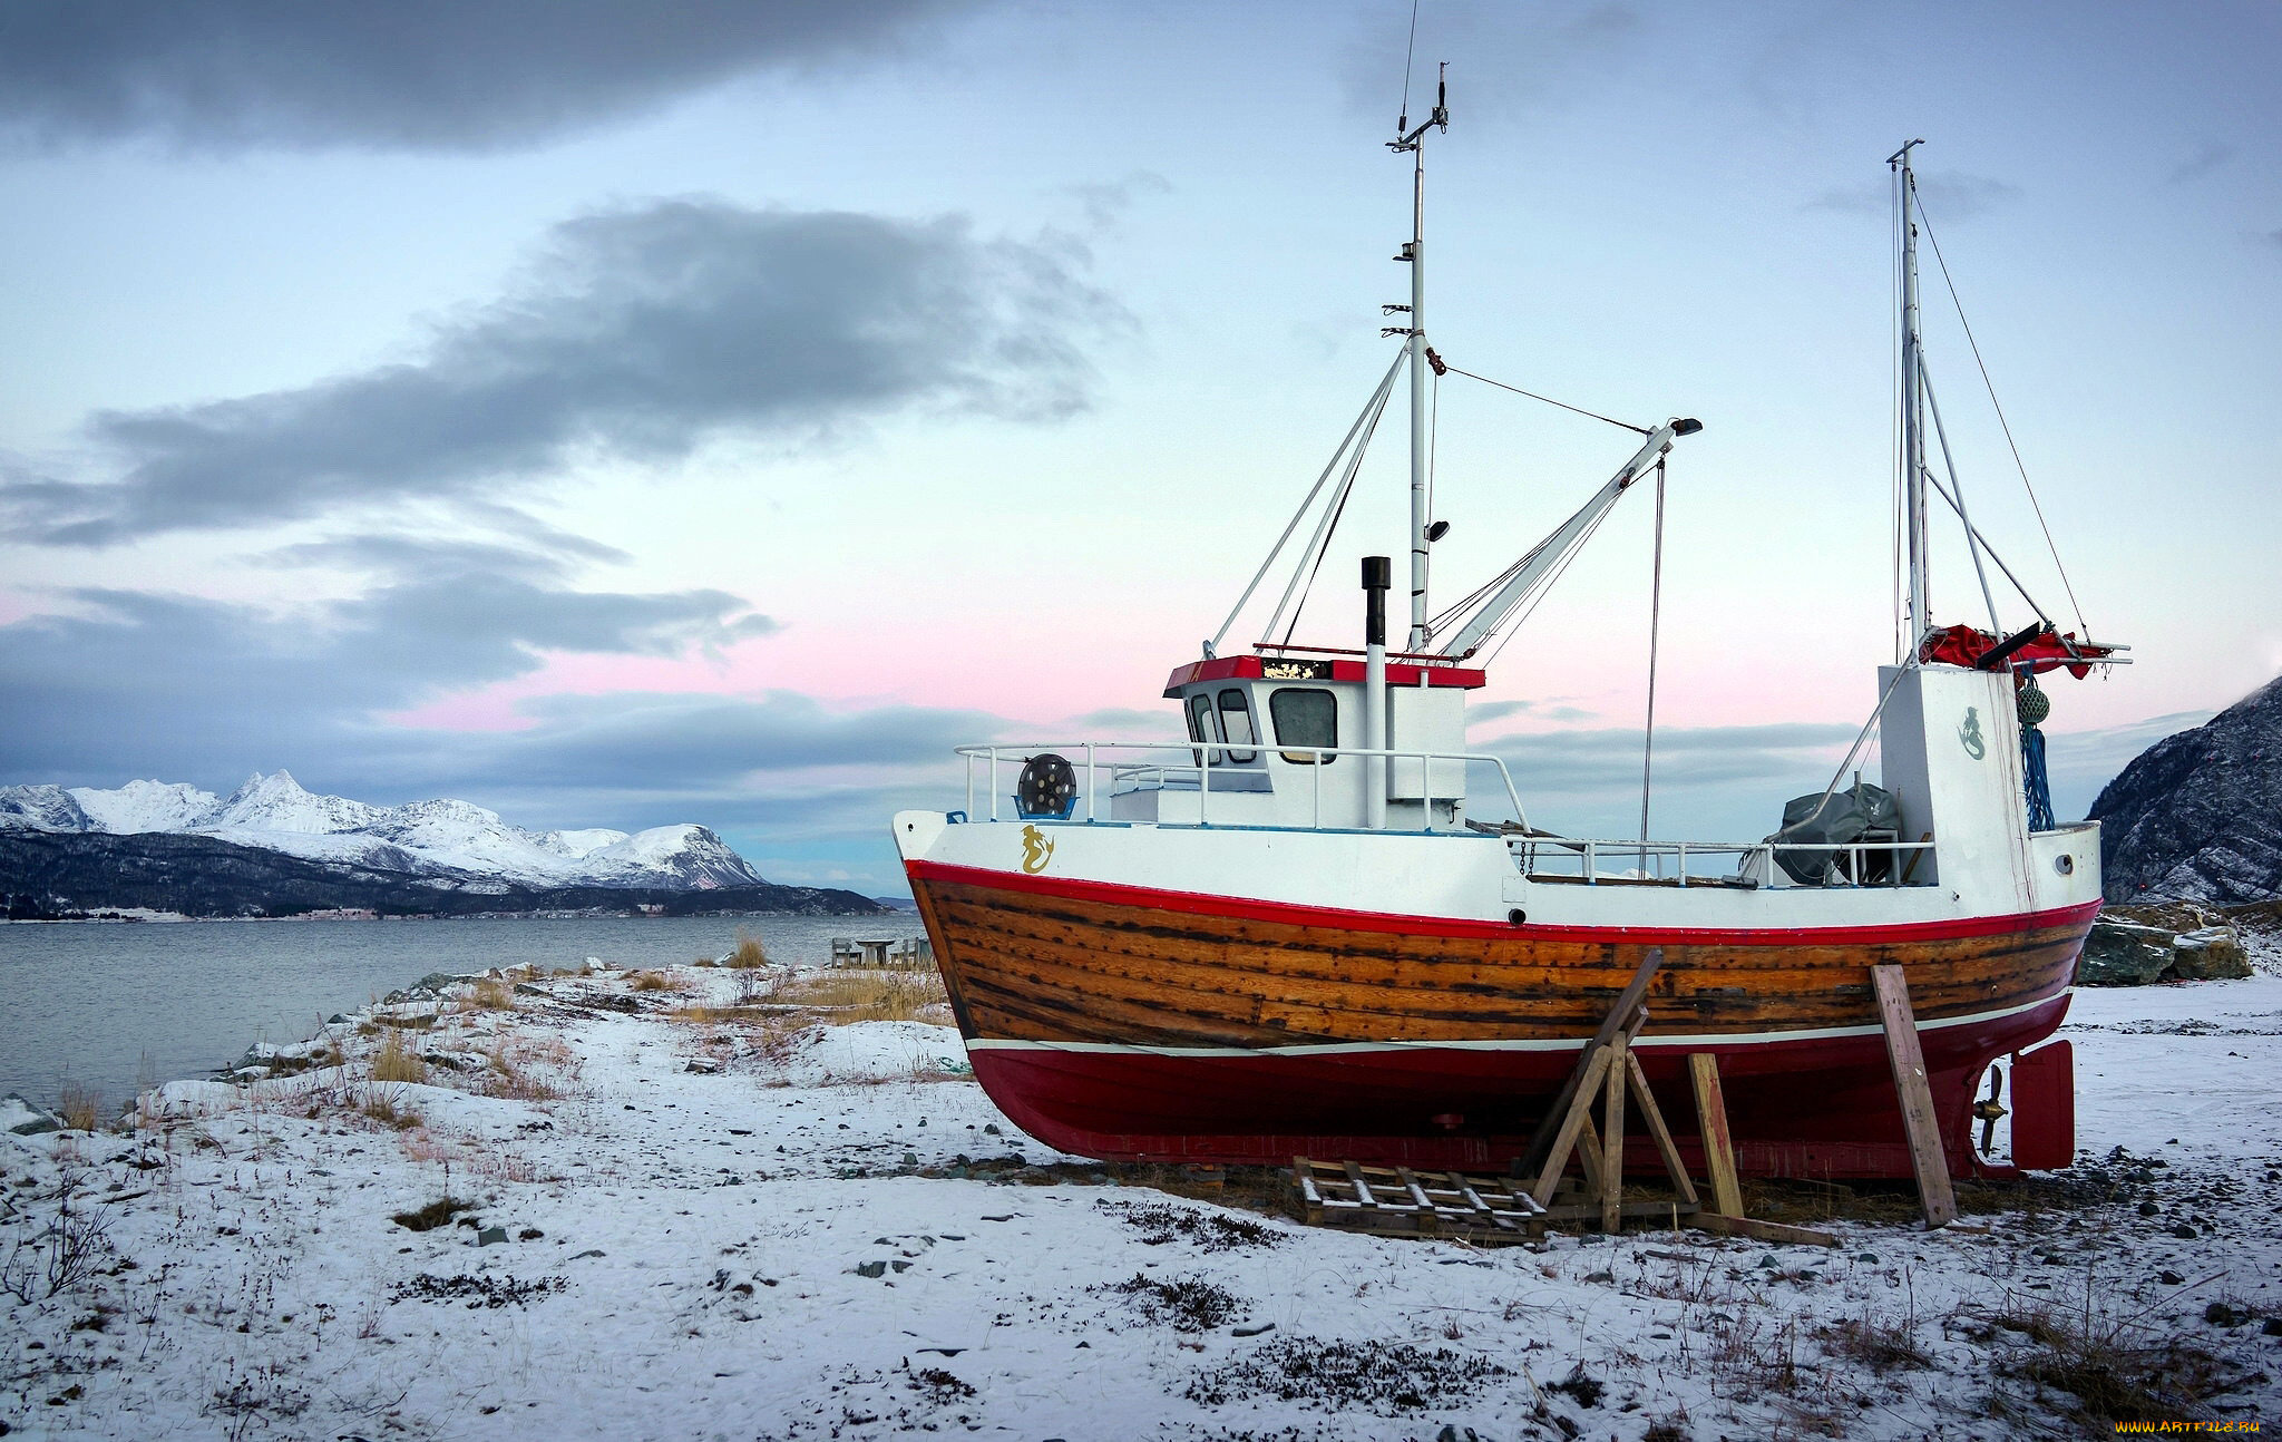
[(256, 771), (228, 796), (162, 780), (0, 787), (0, 892), (14, 915), (879, 910), (853, 892), (771, 885), (705, 826), (527, 831), (466, 801), (319, 796), (288, 771)]

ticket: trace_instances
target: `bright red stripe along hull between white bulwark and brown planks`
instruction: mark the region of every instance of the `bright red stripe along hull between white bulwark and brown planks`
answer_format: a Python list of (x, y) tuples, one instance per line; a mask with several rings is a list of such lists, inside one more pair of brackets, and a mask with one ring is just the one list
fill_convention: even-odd
[[(1488, 837), (1486, 837), (1488, 840)], [(920, 881), (954, 885), (988, 885), (1006, 892), (1061, 897), (1066, 901), (1102, 901), (1114, 906), (1148, 906), (1205, 917), (1246, 922), (1285, 922), (1294, 926), (1335, 926), (1344, 931), (1394, 931), (1403, 935), (1529, 935), (1561, 942), (1638, 942), (1652, 947), (1828, 947), (1903, 940), (1951, 940), (1965, 935), (2010, 935), (2045, 926), (2090, 924), (2099, 901), (2054, 910), (1994, 917), (1958, 917), (1949, 922), (1894, 922), (1889, 926), (1531, 926), (1511, 922), (1474, 922), (1467, 917), (1417, 917), (1383, 910), (1346, 910), (1340, 906), (1298, 906), (1292, 901), (1255, 901), (1251, 897), (1212, 897), (1203, 892), (1168, 892), (1114, 881), (1070, 881), (1063, 876), (1025, 876), (988, 867), (954, 867), (936, 860), (906, 860), (904, 869)]]

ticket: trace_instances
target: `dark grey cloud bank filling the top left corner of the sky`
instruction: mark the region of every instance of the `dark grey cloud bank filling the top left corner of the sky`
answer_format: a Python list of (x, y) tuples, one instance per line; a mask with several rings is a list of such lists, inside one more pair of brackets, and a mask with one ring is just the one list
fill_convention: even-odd
[(497, 151), (755, 71), (915, 48), (954, 0), (11, 0), (0, 135)]

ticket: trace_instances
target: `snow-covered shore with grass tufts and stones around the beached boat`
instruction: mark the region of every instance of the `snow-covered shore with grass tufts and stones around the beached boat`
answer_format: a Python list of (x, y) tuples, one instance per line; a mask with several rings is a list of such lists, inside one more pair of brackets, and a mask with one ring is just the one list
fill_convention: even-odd
[[(1020, 1136), (940, 1008), (826, 1027), (865, 1013), (762, 1011), (792, 997), (774, 983), (454, 986), (256, 1068), (299, 1075), (162, 1086), (135, 1129), (0, 1136), (0, 1421), (2058, 1437), (2090, 1431), (2063, 1387), (2113, 1362), (2200, 1392), (2163, 1415), (2282, 1417), (2268, 974), (2081, 993), (2083, 1166), (1947, 1232), (1832, 1223), (1837, 1250), (1668, 1230), (1474, 1250), (1168, 1196)], [(390, 1040), (427, 1084), (370, 1079)], [(440, 1198), (466, 1209), (393, 1221)]]

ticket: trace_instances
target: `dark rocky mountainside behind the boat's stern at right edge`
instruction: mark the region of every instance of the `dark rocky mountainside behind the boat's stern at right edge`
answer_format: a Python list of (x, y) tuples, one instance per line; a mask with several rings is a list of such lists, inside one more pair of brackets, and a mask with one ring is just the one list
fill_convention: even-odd
[(2093, 819), (2111, 901), (2282, 897), (2282, 680), (2143, 751)]

